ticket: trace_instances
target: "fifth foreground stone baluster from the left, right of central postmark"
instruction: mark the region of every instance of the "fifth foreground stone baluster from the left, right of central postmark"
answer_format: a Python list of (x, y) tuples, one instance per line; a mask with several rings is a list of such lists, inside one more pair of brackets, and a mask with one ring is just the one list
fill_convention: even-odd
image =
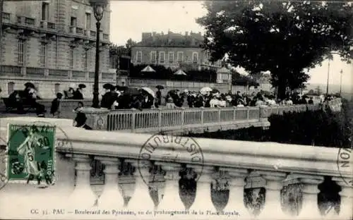
[(216, 212), (215, 206), (213, 205), (211, 199), (211, 175), (214, 171), (212, 166), (198, 166), (198, 165), (189, 165), (193, 168), (199, 176), (198, 182), (196, 185), (196, 197), (193, 205), (190, 207), (190, 210), (209, 210), (211, 212)]

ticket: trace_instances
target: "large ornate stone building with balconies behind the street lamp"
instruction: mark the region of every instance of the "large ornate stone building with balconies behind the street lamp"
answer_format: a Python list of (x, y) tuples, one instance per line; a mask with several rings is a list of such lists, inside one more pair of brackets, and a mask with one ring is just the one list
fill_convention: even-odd
[[(88, 0), (10, 1), (4, 3), (1, 40), (1, 96), (33, 82), (52, 99), (68, 85), (86, 85), (92, 97), (95, 71), (95, 16)], [(110, 6), (101, 21), (100, 84), (115, 82), (109, 69)], [(101, 87), (101, 86), (100, 86)], [(101, 89), (101, 88), (100, 88)]]

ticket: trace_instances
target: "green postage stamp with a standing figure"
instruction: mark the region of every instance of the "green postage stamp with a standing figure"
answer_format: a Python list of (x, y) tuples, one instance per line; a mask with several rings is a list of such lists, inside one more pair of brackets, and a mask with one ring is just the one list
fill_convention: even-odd
[(54, 184), (55, 126), (8, 125), (8, 183)]

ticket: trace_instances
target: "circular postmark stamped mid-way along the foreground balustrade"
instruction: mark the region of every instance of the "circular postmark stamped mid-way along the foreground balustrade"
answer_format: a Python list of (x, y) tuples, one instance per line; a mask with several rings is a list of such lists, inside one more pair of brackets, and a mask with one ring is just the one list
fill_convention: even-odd
[[(203, 173), (203, 152), (198, 142), (190, 137), (176, 135), (152, 135), (140, 148), (138, 154), (138, 172), (143, 182), (150, 185), (147, 177), (143, 176), (141, 169), (146, 168), (143, 161), (164, 161), (177, 164), (195, 164), (201, 169), (196, 171), (196, 181)], [(164, 172), (165, 173), (165, 172)], [(167, 173), (168, 178), (172, 173)]]

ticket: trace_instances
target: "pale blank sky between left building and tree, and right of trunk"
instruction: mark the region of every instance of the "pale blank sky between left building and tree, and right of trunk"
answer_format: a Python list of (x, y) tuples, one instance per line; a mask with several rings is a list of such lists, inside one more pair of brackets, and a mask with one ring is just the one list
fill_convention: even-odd
[[(142, 32), (204, 32), (196, 23), (196, 18), (204, 16), (207, 11), (202, 1), (110, 1), (111, 25), (110, 40), (114, 44), (124, 45), (131, 38), (140, 42)], [(329, 83), (340, 85), (342, 69), (343, 90), (352, 91), (353, 63), (346, 64), (334, 56), (330, 61)], [(326, 84), (328, 61), (323, 61), (309, 71), (311, 84)]]

